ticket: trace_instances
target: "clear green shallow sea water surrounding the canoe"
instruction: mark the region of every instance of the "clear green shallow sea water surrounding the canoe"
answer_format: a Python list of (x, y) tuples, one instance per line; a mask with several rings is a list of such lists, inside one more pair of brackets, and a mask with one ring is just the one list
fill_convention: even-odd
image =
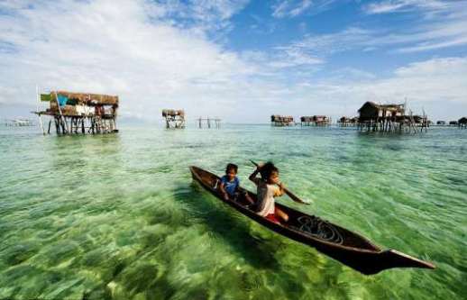
[[(0, 298), (461, 299), (467, 131), (228, 125), (105, 136), (0, 129)], [(280, 203), (435, 263), (363, 276), (234, 212), (188, 166), (274, 161)]]

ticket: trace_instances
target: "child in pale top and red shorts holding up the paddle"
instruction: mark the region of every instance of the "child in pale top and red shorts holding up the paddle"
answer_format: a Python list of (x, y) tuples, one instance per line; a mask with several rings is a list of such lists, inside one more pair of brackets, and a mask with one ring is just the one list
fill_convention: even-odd
[[(261, 174), (261, 178), (256, 177), (258, 173)], [(279, 181), (279, 169), (271, 162), (268, 162), (258, 166), (249, 178), (257, 186), (258, 203), (256, 214), (260, 214), (274, 223), (280, 223), (279, 219), (288, 222), (288, 215), (274, 204), (275, 196), (285, 194), (284, 186)]]

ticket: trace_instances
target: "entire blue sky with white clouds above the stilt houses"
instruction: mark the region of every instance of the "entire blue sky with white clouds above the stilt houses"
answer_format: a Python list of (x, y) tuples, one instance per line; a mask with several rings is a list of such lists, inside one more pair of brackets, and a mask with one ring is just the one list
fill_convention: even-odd
[(32, 117), (36, 85), (119, 95), (123, 120), (154, 123), (336, 120), (366, 101), (457, 120), (467, 0), (0, 0), (0, 117)]

